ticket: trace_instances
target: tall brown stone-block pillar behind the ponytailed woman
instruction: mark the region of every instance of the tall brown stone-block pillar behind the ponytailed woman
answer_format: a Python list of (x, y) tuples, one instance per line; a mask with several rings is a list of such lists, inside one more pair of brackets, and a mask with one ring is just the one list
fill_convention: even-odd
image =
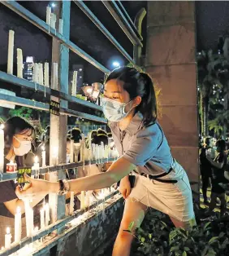
[(149, 1), (145, 68), (162, 89), (162, 118), (171, 152), (198, 192), (195, 2)]

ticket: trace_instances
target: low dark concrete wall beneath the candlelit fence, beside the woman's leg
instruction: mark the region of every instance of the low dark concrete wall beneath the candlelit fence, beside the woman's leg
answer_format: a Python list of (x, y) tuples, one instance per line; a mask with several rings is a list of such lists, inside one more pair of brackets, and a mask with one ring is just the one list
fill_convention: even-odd
[(105, 210), (90, 210), (89, 218), (70, 227), (50, 241), (44, 241), (34, 256), (98, 256), (114, 242), (123, 216), (123, 198), (114, 196), (105, 202)]

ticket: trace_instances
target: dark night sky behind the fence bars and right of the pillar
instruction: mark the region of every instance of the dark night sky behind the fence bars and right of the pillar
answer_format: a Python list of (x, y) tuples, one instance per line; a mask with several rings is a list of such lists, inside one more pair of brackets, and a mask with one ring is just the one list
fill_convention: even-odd
[[(42, 20), (45, 20), (45, 7), (48, 2), (44, 1), (19, 1)], [(97, 15), (99, 20), (113, 34), (114, 38), (123, 48), (132, 55), (132, 44), (119, 28), (102, 2), (85, 2)], [(145, 7), (147, 2), (123, 2), (132, 19), (140, 7)], [(146, 23), (144, 23), (146, 30)], [(37, 61), (51, 60), (51, 38), (40, 31), (28, 21), (16, 15), (13, 11), (0, 3), (0, 69), (6, 71), (7, 38), (8, 30), (15, 30), (15, 49), (20, 47), (25, 55), (34, 55)], [(197, 50), (214, 48), (217, 46), (218, 36), (226, 35), (229, 31), (229, 2), (197, 2)], [(144, 33), (145, 36), (145, 33)], [(111, 42), (97, 29), (97, 27), (84, 15), (84, 13), (71, 2), (71, 41), (75, 42), (84, 51), (92, 55), (106, 68), (112, 68), (114, 59), (127, 60)], [(15, 50), (16, 51), (16, 50)], [(16, 60), (15, 60), (16, 61)], [(77, 55), (70, 54), (70, 67), (72, 64), (84, 64), (84, 82), (102, 81), (103, 74), (97, 72), (91, 64), (82, 60)]]

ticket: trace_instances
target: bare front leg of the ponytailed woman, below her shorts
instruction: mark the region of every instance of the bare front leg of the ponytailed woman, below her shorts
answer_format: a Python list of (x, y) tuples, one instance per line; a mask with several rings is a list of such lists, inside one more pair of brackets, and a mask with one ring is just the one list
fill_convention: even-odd
[(132, 222), (134, 222), (133, 230), (136, 227), (140, 227), (140, 224), (145, 217), (146, 209), (147, 207), (142, 203), (132, 201), (132, 198), (130, 197), (127, 198), (123, 212), (123, 219), (119, 227), (118, 236), (114, 243), (112, 256), (130, 255), (133, 236), (123, 230), (127, 230)]

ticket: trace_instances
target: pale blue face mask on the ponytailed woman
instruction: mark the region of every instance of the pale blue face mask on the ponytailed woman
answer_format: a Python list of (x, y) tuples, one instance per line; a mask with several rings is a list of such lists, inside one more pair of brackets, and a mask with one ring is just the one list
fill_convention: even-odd
[(109, 121), (120, 121), (131, 112), (132, 108), (127, 113), (125, 112), (127, 104), (131, 102), (121, 103), (113, 99), (102, 98), (102, 111)]

